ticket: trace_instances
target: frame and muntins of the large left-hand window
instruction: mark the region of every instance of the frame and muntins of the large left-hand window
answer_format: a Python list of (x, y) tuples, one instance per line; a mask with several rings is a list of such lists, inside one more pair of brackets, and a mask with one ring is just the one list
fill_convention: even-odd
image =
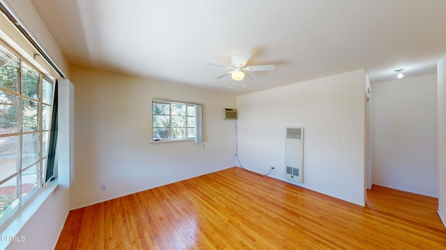
[[(36, 65), (33, 65), (33, 63), (30, 63), (28, 60), (25, 60), (20, 53), (17, 53), (15, 49), (12, 49), (8, 46), (5, 42), (0, 42), (0, 47), (2, 47), (4, 50), (11, 53), (13, 56), (15, 56), (18, 60), (18, 68), (17, 68), (17, 92), (15, 90), (9, 90), (8, 88), (2, 88), (0, 87), (0, 90), (3, 93), (11, 94), (14, 97), (17, 97), (17, 131), (13, 133), (4, 133), (0, 135), (1, 138), (11, 138), (14, 136), (17, 136), (17, 151), (16, 151), (16, 163), (15, 163), (15, 172), (13, 174), (10, 174), (8, 176), (4, 176), (4, 178), (0, 179), (0, 185), (3, 185), (4, 183), (8, 183), (8, 181), (11, 181), (15, 179), (15, 192), (17, 194), (17, 205), (15, 205), (15, 208), (10, 208), (10, 210), (3, 214), (3, 218), (0, 220), (0, 228), (3, 228), (3, 226), (7, 225), (10, 219), (14, 218), (17, 213), (20, 213), (20, 211), (30, 203), (31, 199), (33, 197), (36, 197), (37, 194), (39, 194), (43, 187), (47, 184), (47, 182), (44, 181), (45, 178), (45, 172), (44, 169), (46, 169), (47, 166), (44, 166), (43, 163), (47, 164), (47, 153), (48, 153), (48, 143), (47, 143), (47, 149), (43, 149), (43, 135), (45, 132), (47, 132), (47, 137), (49, 137), (49, 129), (45, 129), (43, 127), (43, 107), (49, 106), (49, 118), (45, 122), (48, 124), (51, 124), (52, 122), (52, 108), (53, 108), (53, 97), (54, 97), (54, 87), (55, 87), (55, 78), (54, 76), (51, 76), (45, 72), (42, 72)], [(23, 84), (23, 73), (24, 73), (24, 66), (28, 67), (29, 69), (33, 70), (33, 72), (36, 72), (38, 74), (38, 88), (37, 88), (37, 97), (30, 97), (29, 95), (24, 93), (24, 84)], [(46, 103), (43, 100), (43, 84), (44, 81), (47, 81), (52, 87), (51, 90), (51, 99), (49, 100), (50, 103)], [(37, 103), (37, 128), (36, 130), (30, 130), (27, 131), (24, 129), (23, 124), (23, 116), (24, 116), (24, 101), (33, 101)], [(20, 115), (18, 115), (20, 113)], [(47, 124), (47, 125), (48, 125)], [(37, 142), (37, 160), (33, 161), (33, 163), (27, 163), (26, 165), (23, 165), (22, 158), (23, 158), (23, 152), (24, 152), (24, 142), (23, 137), (24, 135), (37, 135), (38, 142)], [(47, 141), (49, 138), (47, 138)], [(44, 152), (45, 155), (44, 155)], [(36, 167), (36, 187), (33, 187), (26, 196), (23, 196), (24, 190), (23, 188), (23, 176), (26, 175), (27, 171), (29, 169), (32, 169), (33, 167)], [(34, 173), (34, 172), (33, 172)], [(31, 180), (32, 181), (32, 180)], [(25, 183), (28, 183), (27, 181)], [(8, 186), (6, 186), (8, 187)], [(13, 185), (11, 185), (13, 187)], [(14, 201), (15, 202), (15, 201)], [(7, 204), (7, 206), (10, 206), (10, 203)]]

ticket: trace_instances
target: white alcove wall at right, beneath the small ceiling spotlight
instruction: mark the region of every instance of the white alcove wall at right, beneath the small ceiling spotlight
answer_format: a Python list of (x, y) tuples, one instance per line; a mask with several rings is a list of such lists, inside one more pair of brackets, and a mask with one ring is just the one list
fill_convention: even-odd
[(436, 74), (372, 88), (373, 183), (438, 197)]

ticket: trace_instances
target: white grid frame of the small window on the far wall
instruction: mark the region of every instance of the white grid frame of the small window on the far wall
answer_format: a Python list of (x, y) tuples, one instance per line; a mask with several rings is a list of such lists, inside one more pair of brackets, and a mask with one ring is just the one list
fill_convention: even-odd
[[(154, 107), (154, 103), (160, 103), (160, 104), (169, 104), (169, 139), (155, 139), (153, 138), (153, 131), (155, 130), (155, 126), (153, 124), (154, 121), (154, 116), (155, 114), (153, 113), (153, 107)], [(181, 126), (181, 127), (173, 127), (172, 126), (172, 105), (173, 104), (180, 104), (180, 105), (184, 105), (185, 106), (185, 126)], [(197, 137), (197, 103), (187, 103), (187, 102), (183, 102), (183, 101), (170, 101), (170, 100), (159, 100), (159, 99), (153, 99), (152, 100), (152, 135), (151, 135), (151, 142), (153, 143), (160, 143), (160, 142), (184, 142), (184, 141), (194, 141), (196, 140)], [(190, 115), (187, 115), (187, 107), (188, 106), (192, 106), (194, 107), (194, 127), (190, 127), (187, 126), (187, 117), (192, 117)], [(161, 127), (160, 127), (161, 128)], [(164, 127), (167, 128), (167, 127)], [(185, 128), (185, 138), (172, 138), (172, 128)], [(187, 130), (193, 128), (194, 129), (194, 137), (187, 137)]]

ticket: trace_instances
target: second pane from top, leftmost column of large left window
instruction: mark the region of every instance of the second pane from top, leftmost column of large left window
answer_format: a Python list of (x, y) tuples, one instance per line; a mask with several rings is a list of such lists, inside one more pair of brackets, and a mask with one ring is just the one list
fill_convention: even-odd
[(18, 133), (19, 128), (19, 97), (0, 91), (0, 134)]

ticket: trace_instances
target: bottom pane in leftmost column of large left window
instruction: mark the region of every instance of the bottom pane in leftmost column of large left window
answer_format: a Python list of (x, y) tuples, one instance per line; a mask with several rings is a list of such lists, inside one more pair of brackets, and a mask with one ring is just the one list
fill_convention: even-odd
[(0, 185), (0, 225), (19, 209), (17, 176)]

